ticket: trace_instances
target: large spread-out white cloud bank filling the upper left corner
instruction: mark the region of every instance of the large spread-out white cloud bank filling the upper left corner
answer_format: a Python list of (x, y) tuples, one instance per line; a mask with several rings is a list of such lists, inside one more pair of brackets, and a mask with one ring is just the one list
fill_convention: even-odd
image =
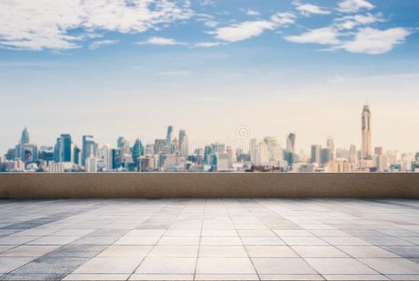
[(80, 47), (78, 42), (97, 30), (141, 33), (190, 18), (189, 2), (181, 1), (0, 1), (0, 46), (66, 50)]

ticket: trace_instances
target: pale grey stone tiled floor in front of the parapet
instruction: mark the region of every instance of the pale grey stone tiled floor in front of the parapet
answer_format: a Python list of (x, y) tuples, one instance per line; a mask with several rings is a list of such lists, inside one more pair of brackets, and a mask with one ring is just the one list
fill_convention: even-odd
[(0, 200), (3, 280), (418, 280), (419, 200)]

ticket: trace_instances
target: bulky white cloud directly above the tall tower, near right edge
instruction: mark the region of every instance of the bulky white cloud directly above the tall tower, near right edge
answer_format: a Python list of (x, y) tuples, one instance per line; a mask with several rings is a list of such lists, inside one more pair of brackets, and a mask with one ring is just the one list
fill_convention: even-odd
[(379, 30), (371, 27), (361, 28), (353, 41), (344, 41), (334, 49), (354, 53), (382, 54), (392, 51), (395, 45), (403, 43), (410, 31), (402, 27)]

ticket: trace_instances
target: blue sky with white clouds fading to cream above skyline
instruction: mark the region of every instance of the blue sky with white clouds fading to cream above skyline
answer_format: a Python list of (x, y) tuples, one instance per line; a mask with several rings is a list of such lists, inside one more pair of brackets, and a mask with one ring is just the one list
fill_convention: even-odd
[(249, 137), (297, 149), (361, 143), (419, 151), (417, 0), (0, 0), (4, 152), (27, 126), (193, 140)]

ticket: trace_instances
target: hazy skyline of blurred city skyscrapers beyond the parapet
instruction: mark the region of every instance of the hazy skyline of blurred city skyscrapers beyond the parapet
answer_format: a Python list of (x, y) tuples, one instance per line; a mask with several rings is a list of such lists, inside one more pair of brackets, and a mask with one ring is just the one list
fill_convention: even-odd
[(196, 144), (185, 129), (176, 136), (167, 127), (165, 138), (153, 142), (118, 137), (116, 146), (99, 145), (85, 135), (81, 145), (70, 134), (61, 134), (54, 145), (31, 143), (27, 128), (19, 144), (0, 158), (2, 172), (419, 172), (419, 152), (373, 149), (371, 112), (361, 112), (361, 149), (355, 144), (335, 147), (312, 144), (308, 153), (296, 151), (298, 136), (289, 133), (282, 145), (276, 137), (250, 138), (248, 129), (237, 128), (236, 147), (230, 144)]

